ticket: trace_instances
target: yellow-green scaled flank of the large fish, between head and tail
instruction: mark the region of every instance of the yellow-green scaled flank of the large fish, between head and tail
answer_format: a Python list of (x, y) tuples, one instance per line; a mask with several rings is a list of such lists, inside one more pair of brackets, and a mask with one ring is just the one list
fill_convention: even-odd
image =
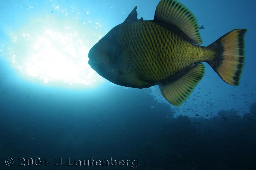
[(207, 53), (204, 47), (195, 46), (154, 22), (127, 23), (120, 28), (117, 37), (122, 47), (130, 49), (135, 63), (127, 74), (139, 70), (136, 71), (139, 77), (149, 82), (164, 80), (191, 63), (208, 59), (198, 55)]

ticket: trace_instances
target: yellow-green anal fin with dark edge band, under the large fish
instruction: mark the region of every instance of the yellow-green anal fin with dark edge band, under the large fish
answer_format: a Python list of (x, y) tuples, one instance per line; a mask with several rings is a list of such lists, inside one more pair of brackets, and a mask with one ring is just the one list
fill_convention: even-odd
[(166, 100), (174, 106), (180, 106), (188, 99), (203, 76), (204, 64), (198, 63), (178, 80), (167, 85), (159, 85), (159, 88)]

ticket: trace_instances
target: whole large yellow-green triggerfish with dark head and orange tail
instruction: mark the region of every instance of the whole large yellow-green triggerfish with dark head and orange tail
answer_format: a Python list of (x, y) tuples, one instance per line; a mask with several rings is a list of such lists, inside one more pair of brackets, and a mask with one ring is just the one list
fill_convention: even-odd
[(195, 16), (176, 0), (161, 0), (154, 20), (137, 18), (137, 6), (89, 51), (89, 65), (126, 87), (159, 85), (180, 106), (204, 76), (207, 62), (226, 83), (238, 85), (244, 65), (245, 29), (232, 30), (208, 47)]

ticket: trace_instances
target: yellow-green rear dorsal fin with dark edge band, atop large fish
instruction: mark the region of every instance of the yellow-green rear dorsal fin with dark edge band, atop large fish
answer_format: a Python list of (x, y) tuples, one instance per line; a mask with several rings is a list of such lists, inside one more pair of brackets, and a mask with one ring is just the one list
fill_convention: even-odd
[(196, 17), (176, 0), (161, 0), (156, 7), (154, 21), (177, 26), (194, 44), (203, 43)]

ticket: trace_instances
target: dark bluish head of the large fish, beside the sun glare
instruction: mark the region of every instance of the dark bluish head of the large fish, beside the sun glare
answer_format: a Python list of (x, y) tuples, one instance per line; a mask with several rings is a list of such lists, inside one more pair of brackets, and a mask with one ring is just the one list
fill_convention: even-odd
[(88, 64), (92, 69), (113, 83), (118, 77), (118, 58), (123, 51), (116, 39), (116, 33), (117, 29), (114, 27), (88, 53)]

